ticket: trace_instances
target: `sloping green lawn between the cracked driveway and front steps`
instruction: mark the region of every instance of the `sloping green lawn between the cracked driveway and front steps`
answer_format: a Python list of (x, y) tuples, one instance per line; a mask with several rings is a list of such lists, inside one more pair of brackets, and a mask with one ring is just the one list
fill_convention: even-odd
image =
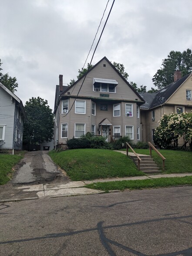
[(144, 175), (126, 155), (107, 149), (72, 149), (49, 152), (73, 181)]

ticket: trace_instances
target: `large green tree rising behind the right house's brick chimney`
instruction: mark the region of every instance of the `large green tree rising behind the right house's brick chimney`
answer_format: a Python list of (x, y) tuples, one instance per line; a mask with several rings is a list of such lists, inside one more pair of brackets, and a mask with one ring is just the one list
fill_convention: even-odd
[(192, 72), (192, 51), (170, 51), (168, 58), (162, 62), (152, 81), (158, 89), (161, 89), (174, 81), (174, 71), (182, 71), (182, 76)]

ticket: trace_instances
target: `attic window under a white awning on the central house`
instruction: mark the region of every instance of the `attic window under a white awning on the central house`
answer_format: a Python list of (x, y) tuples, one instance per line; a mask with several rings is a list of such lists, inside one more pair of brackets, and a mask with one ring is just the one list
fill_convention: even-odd
[(118, 85), (116, 80), (93, 78), (93, 91), (103, 91), (115, 93), (115, 87)]

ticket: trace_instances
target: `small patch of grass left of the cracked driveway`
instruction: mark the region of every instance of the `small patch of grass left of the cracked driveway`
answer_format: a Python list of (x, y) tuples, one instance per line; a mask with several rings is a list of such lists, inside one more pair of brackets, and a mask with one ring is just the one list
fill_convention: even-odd
[(24, 152), (21, 155), (0, 154), (0, 185), (6, 184), (13, 175), (13, 166), (23, 158)]

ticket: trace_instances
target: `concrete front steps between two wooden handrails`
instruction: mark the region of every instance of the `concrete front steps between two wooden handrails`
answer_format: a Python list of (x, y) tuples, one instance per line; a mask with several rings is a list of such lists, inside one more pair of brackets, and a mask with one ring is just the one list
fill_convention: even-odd
[[(139, 154), (138, 154), (139, 155)], [(133, 162), (135, 162), (135, 165), (138, 167), (138, 158), (135, 155), (130, 155)], [(146, 174), (155, 174), (155, 173), (161, 173), (159, 171), (159, 168), (155, 164), (155, 161), (151, 157), (151, 155), (139, 155), (141, 158), (140, 161), (140, 171), (145, 172)]]

